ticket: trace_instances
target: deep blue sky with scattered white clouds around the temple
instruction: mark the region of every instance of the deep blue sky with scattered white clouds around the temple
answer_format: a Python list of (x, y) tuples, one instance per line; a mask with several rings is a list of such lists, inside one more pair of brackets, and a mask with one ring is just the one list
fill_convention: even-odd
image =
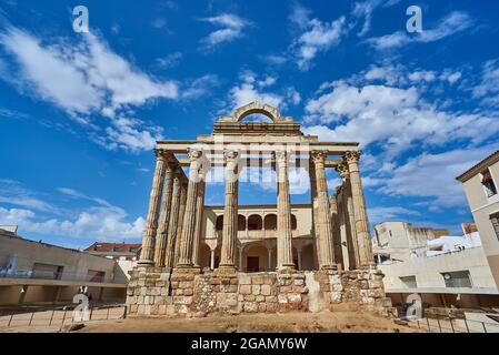
[[(499, 4), (477, 3), (4, 0), (0, 224), (70, 247), (140, 241), (154, 140), (210, 133), (259, 100), (362, 144), (371, 224), (459, 233), (471, 215), (455, 176), (499, 146)], [(72, 29), (77, 4), (89, 33)], [(412, 4), (422, 33), (406, 30)], [(292, 191), (309, 201), (306, 183)], [(220, 183), (207, 193), (222, 203)], [(272, 184), (241, 184), (240, 203), (275, 201)]]

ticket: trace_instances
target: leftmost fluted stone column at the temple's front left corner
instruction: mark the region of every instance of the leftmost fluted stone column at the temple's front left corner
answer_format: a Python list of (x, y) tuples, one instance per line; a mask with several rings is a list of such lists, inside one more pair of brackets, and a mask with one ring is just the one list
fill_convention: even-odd
[(140, 265), (154, 264), (156, 232), (158, 229), (158, 215), (163, 190), (164, 172), (167, 166), (167, 155), (162, 150), (154, 150), (156, 169), (152, 179), (151, 195), (149, 197), (149, 212), (146, 220), (146, 227), (142, 236), (142, 251), (140, 253)]

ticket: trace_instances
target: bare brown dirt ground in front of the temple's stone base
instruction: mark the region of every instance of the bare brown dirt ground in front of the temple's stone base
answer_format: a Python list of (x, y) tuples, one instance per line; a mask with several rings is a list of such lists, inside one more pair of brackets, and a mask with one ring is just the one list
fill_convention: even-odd
[(321, 312), (210, 316), (206, 318), (127, 318), (88, 323), (79, 333), (415, 333), (418, 329), (367, 312)]

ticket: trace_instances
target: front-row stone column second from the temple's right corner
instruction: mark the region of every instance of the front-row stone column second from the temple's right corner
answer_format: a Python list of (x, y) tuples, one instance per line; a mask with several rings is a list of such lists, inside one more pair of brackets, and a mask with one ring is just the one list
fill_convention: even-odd
[(335, 270), (335, 254), (332, 252), (332, 223), (329, 207), (328, 184), (326, 179), (326, 152), (312, 151), (311, 158), (313, 160), (317, 183), (317, 204), (318, 219), (317, 231), (319, 235), (319, 267)]

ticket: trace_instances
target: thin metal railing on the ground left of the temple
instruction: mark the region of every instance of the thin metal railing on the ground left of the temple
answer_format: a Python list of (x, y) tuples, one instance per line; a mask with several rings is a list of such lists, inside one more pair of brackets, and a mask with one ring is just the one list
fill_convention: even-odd
[[(122, 320), (126, 316), (126, 306), (100, 306), (89, 308), (88, 321)], [(73, 308), (54, 308), (40, 311), (14, 310), (0, 313), (0, 329), (2, 327), (18, 326), (47, 326), (60, 327), (73, 323), (81, 323), (74, 315)]]

